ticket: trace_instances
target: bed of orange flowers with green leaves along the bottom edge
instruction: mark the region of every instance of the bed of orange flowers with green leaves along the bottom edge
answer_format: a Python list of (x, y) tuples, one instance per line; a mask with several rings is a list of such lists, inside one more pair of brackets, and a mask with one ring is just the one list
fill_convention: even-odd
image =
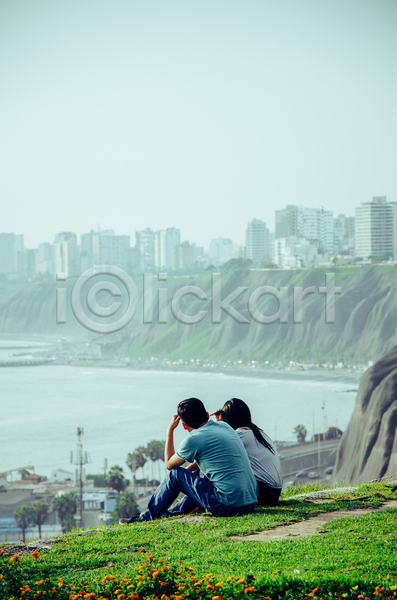
[[(40, 560), (37, 551), (31, 553)], [(130, 577), (117, 578), (105, 575), (93, 581), (65, 581), (57, 579), (31, 580), (18, 554), (11, 558), (0, 550), (0, 598), (2, 600), (396, 600), (397, 585), (357, 584), (353, 587), (343, 582), (319, 583), (307, 589), (307, 583), (299, 579), (255, 582), (252, 576), (230, 576), (216, 581), (211, 573), (202, 577), (193, 569), (154, 559), (148, 554), (145, 560), (131, 570)]]

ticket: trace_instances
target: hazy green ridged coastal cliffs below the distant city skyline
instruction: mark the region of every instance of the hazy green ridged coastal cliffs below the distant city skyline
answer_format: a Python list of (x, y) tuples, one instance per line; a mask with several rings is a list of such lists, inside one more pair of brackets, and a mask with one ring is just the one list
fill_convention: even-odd
[[(326, 323), (325, 296), (319, 288), (325, 286), (326, 273), (334, 272), (335, 284), (342, 288), (336, 296), (335, 322)], [(128, 336), (129, 355), (132, 357), (160, 357), (172, 360), (302, 360), (318, 362), (328, 360), (344, 363), (365, 363), (376, 360), (397, 344), (397, 269), (389, 266), (313, 269), (301, 271), (277, 270), (224, 270), (220, 284), (214, 291), (222, 300), (238, 288), (247, 290), (231, 306), (247, 322), (238, 323), (219, 310), (220, 322), (211, 317), (211, 274), (197, 277), (169, 277), (166, 282), (153, 281), (153, 310), (151, 323), (143, 324), (142, 281), (135, 277), (138, 288), (138, 308), (131, 323), (121, 334)], [(68, 280), (70, 291), (74, 280)], [(58, 285), (64, 285), (58, 283)], [(207, 300), (194, 295), (186, 296), (180, 306), (187, 315), (207, 311), (197, 324), (179, 322), (170, 307), (166, 311), (167, 323), (158, 323), (158, 288), (166, 288), (168, 305), (175, 292), (183, 286), (203, 290)], [(288, 297), (287, 322), (280, 320), (261, 324), (249, 313), (247, 304), (252, 293), (261, 286), (284, 288), (281, 295)], [(314, 286), (315, 292), (304, 298), (302, 322), (294, 322), (294, 287)], [(71, 335), (95, 339), (75, 319), (68, 303), (67, 323), (57, 325), (55, 301), (57, 282), (32, 284), (8, 297), (0, 305), (0, 333)], [(113, 299), (103, 294), (103, 302)], [(278, 301), (271, 295), (262, 296), (258, 309), (262, 315), (277, 313)], [(252, 307), (251, 307), (252, 308)], [(295, 318), (296, 321), (296, 318)], [(120, 335), (120, 334), (119, 334)], [(127, 345), (128, 346), (128, 345)]]

